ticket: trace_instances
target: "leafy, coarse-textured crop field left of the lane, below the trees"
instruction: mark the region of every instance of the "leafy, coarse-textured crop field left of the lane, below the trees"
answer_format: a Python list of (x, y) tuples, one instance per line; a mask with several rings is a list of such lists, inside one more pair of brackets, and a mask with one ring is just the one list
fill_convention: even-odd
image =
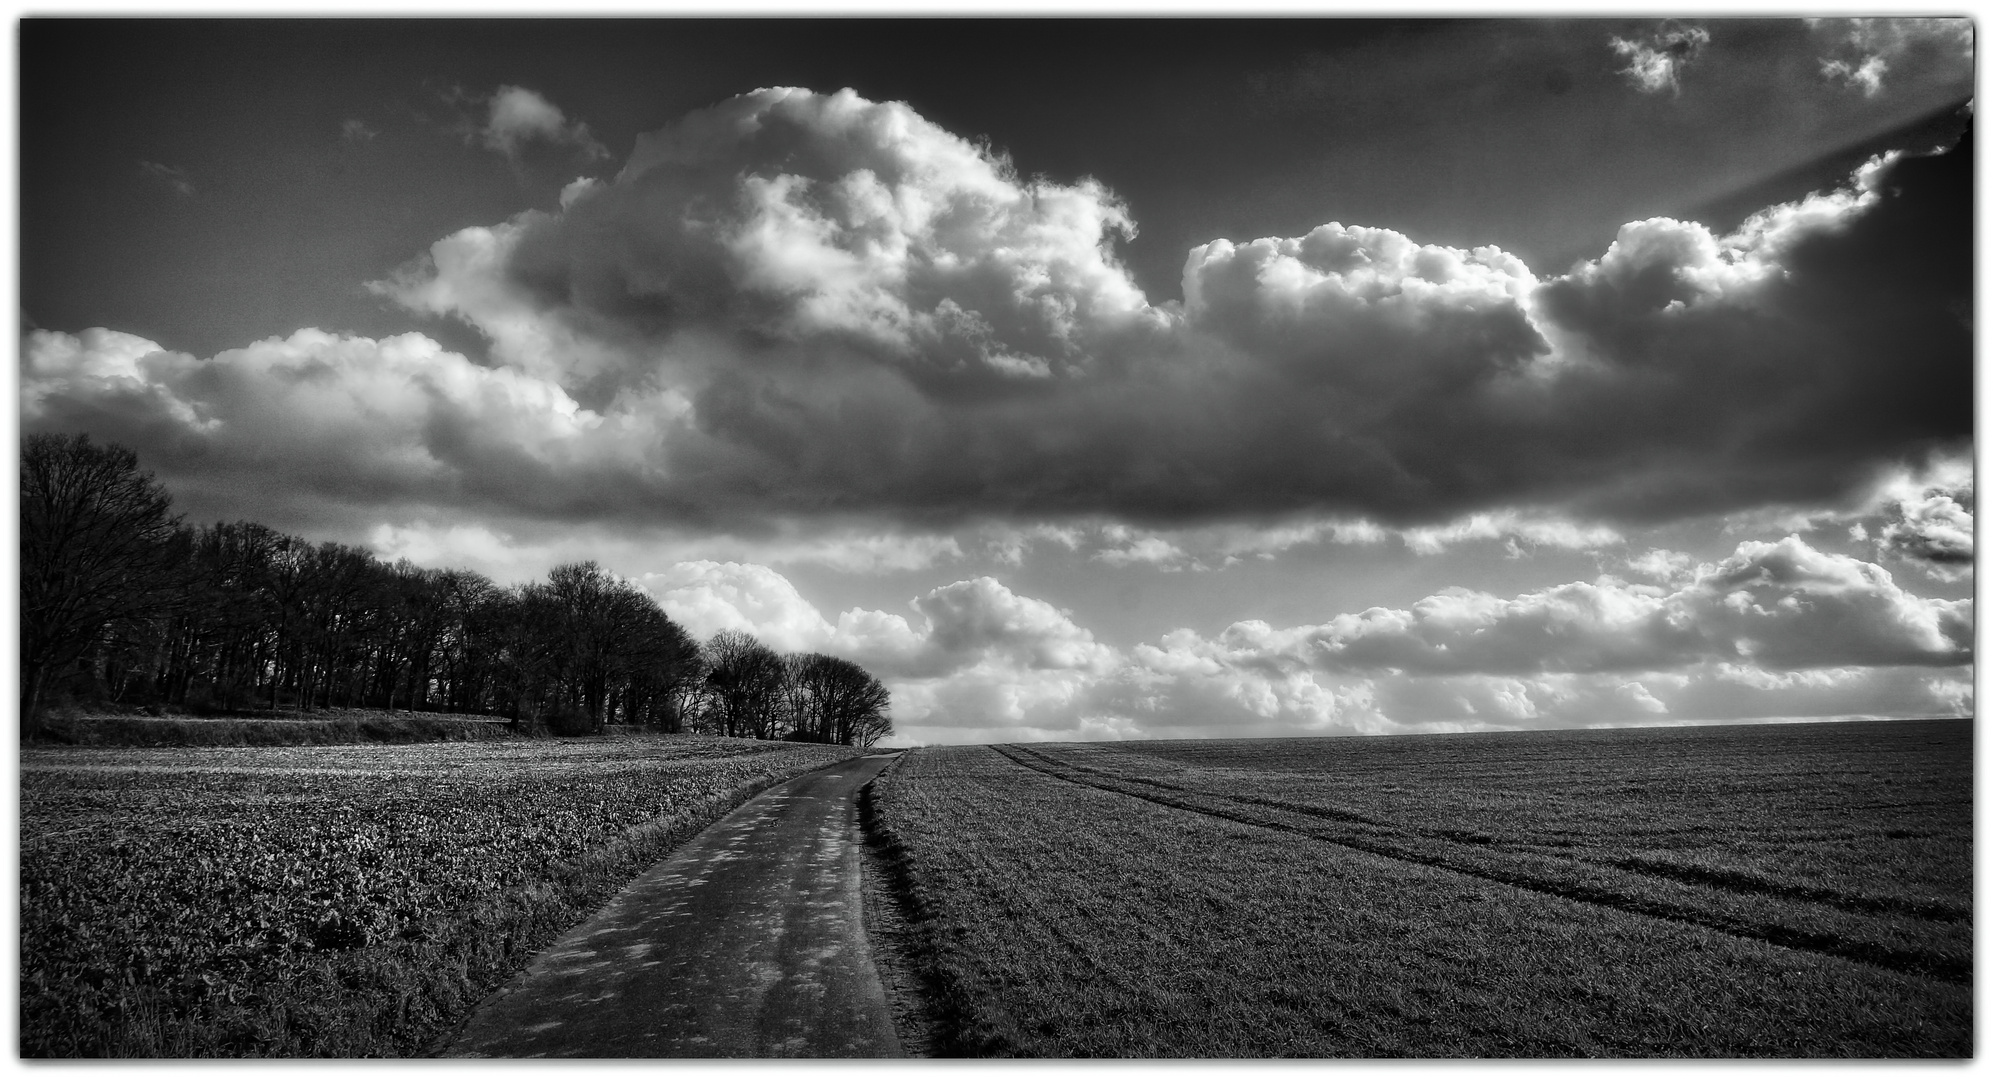
[(628, 879), (849, 747), (30, 747), (24, 1056), (432, 1044)]

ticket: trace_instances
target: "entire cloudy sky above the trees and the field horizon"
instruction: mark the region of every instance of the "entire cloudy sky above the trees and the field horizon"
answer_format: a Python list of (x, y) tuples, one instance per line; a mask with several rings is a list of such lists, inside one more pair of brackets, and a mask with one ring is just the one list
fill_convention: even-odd
[[(969, 48), (973, 42), (975, 48)], [(1967, 20), (20, 24), (20, 426), (893, 741), (1973, 709)]]

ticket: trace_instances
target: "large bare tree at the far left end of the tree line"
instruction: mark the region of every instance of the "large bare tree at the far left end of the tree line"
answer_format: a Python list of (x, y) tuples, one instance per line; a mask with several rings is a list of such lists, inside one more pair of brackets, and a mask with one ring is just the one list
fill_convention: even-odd
[(138, 454), (88, 434), (32, 434), (20, 452), (20, 719), (116, 624), (163, 614), (185, 538)]

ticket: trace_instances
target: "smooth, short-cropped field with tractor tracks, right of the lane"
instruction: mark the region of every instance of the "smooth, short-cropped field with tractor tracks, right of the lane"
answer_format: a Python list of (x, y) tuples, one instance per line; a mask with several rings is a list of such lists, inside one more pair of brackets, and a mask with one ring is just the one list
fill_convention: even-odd
[(1971, 721), (933, 747), (871, 795), (933, 1040), (1969, 1056)]

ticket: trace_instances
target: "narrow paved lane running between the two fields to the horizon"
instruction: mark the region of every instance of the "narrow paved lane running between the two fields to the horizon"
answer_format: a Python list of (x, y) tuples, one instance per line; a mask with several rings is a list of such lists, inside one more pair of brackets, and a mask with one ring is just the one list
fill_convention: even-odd
[(859, 913), (857, 789), (779, 783), (636, 879), (478, 1006), (450, 1056), (895, 1058)]

